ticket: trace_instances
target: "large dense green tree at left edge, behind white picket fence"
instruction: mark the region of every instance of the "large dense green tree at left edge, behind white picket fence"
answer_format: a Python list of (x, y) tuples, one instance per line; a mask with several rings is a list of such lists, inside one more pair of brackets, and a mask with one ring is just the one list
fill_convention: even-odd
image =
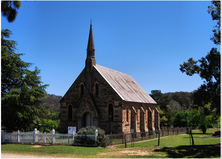
[(8, 130), (33, 130), (40, 114), (48, 113), (48, 106), (40, 106), (46, 96), (41, 82), (40, 70), (30, 71), (30, 63), (16, 54), (17, 43), (10, 38), (11, 31), (1, 31), (1, 106), (2, 126)]

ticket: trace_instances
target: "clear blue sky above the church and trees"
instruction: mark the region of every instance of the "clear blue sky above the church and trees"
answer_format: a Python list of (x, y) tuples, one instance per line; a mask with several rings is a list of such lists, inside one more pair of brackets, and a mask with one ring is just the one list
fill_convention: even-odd
[(41, 69), (47, 93), (63, 96), (85, 67), (90, 19), (96, 63), (131, 75), (147, 93), (192, 92), (203, 81), (179, 68), (212, 47), (210, 1), (22, 1), (13, 32), (22, 60)]

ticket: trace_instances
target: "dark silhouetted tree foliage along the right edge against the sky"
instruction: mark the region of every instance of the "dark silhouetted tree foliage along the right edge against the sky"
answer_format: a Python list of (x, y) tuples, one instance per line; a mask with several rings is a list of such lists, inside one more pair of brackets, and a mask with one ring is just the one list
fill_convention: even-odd
[[(220, 1), (212, 1), (212, 6), (208, 7), (208, 13), (212, 19), (217, 21), (213, 29), (213, 37), (211, 40), (216, 45), (220, 45)], [(199, 74), (204, 83), (194, 91), (194, 104), (204, 107), (211, 103), (211, 111), (220, 114), (220, 52), (217, 48), (211, 51), (200, 60), (195, 61), (193, 58), (188, 59), (180, 65), (180, 70), (189, 76)]]

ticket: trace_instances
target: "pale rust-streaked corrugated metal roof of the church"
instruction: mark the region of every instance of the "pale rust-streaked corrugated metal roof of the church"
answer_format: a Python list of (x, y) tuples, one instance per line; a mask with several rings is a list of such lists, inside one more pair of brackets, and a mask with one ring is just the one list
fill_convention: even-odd
[(97, 64), (94, 65), (94, 67), (122, 98), (122, 100), (156, 104), (156, 102), (132, 78), (132, 76)]

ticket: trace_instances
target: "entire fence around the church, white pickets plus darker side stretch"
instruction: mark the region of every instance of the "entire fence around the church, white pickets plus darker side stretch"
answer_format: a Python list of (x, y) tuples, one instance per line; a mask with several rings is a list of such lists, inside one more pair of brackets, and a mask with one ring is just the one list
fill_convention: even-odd
[[(171, 128), (148, 132), (136, 132), (128, 134), (108, 134), (110, 145), (134, 143), (142, 140), (150, 140), (160, 137), (188, 133), (189, 128)], [(41, 133), (37, 129), (32, 132), (14, 132), (1, 133), (1, 143), (27, 143), (27, 144), (52, 144), (52, 145), (81, 145), (75, 143), (75, 140), (81, 140), (81, 137), (87, 138), (88, 142), (84, 144), (96, 145), (98, 131), (94, 135), (77, 135), (77, 134), (57, 134), (55, 130), (51, 133)]]

